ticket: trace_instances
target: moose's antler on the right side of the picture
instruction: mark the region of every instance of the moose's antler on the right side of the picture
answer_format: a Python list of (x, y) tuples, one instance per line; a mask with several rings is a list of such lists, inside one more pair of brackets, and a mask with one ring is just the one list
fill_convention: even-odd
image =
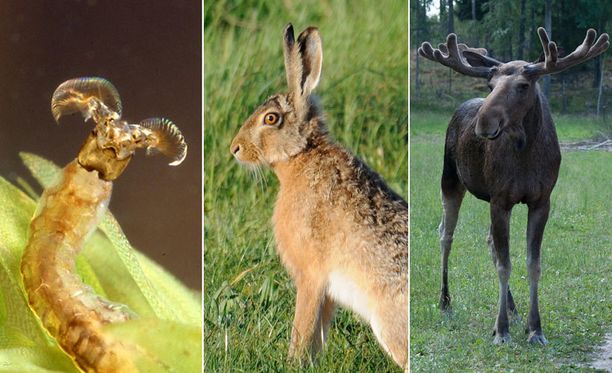
[(605, 52), (610, 46), (610, 37), (608, 34), (603, 33), (599, 36), (597, 41), (595, 41), (596, 35), (597, 33), (595, 30), (592, 28), (589, 29), (584, 41), (575, 51), (563, 58), (559, 58), (557, 44), (555, 44), (554, 41), (550, 41), (546, 30), (540, 27), (538, 28), (538, 36), (540, 37), (540, 43), (542, 43), (542, 48), (544, 49), (545, 60), (529, 65), (525, 70), (529, 74), (534, 75), (555, 74), (588, 61), (593, 57), (597, 57)]

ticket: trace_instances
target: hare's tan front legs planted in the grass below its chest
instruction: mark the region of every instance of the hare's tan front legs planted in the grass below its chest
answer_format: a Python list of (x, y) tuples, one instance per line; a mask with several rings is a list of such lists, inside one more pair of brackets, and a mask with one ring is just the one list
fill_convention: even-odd
[(334, 312), (325, 284), (312, 279), (296, 281), (297, 300), (289, 346), (289, 359), (308, 361), (321, 350)]

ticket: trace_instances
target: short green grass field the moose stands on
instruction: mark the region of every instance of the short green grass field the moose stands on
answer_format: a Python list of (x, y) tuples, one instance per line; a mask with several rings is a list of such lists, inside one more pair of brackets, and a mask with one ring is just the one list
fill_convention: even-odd
[[(542, 246), (540, 312), (549, 345), (530, 346), (521, 322), (510, 326), (511, 343), (494, 346), (498, 285), (485, 240), (488, 204), (471, 195), (464, 200), (449, 259), (452, 313), (438, 309), (439, 178), (450, 117), (420, 111), (410, 116), (412, 371), (586, 370), (593, 348), (612, 329), (612, 154), (563, 153)], [(597, 122), (579, 117), (556, 117), (556, 123), (561, 141), (590, 138), (599, 131)], [(510, 286), (526, 321), (527, 209), (518, 205), (513, 212)]]

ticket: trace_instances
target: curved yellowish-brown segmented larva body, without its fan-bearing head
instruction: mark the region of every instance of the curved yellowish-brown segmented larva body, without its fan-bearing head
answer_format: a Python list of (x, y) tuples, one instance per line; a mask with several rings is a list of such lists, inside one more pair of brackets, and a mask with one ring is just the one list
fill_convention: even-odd
[(85, 370), (135, 371), (119, 342), (105, 336), (103, 324), (125, 321), (130, 312), (85, 285), (75, 273), (76, 257), (106, 211), (110, 181), (77, 161), (43, 193), (30, 224), (21, 263), (30, 306), (60, 346)]

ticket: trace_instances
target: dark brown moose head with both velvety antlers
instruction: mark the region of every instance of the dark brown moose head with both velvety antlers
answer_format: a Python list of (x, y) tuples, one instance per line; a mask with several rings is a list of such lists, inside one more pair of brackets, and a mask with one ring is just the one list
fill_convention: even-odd
[(574, 52), (559, 58), (557, 44), (548, 38), (546, 30), (540, 27), (538, 35), (544, 50), (544, 61), (535, 63), (520, 60), (500, 62), (488, 56), (486, 49), (458, 44), (455, 34), (449, 34), (446, 43), (440, 44), (438, 49), (424, 42), (419, 54), (463, 75), (487, 79), (491, 93), (478, 111), (476, 134), (493, 140), (507, 131), (521, 143), (525, 136), (523, 119), (539, 102), (538, 78), (588, 61), (610, 45), (608, 34), (602, 34), (595, 40), (595, 30), (589, 29)]

